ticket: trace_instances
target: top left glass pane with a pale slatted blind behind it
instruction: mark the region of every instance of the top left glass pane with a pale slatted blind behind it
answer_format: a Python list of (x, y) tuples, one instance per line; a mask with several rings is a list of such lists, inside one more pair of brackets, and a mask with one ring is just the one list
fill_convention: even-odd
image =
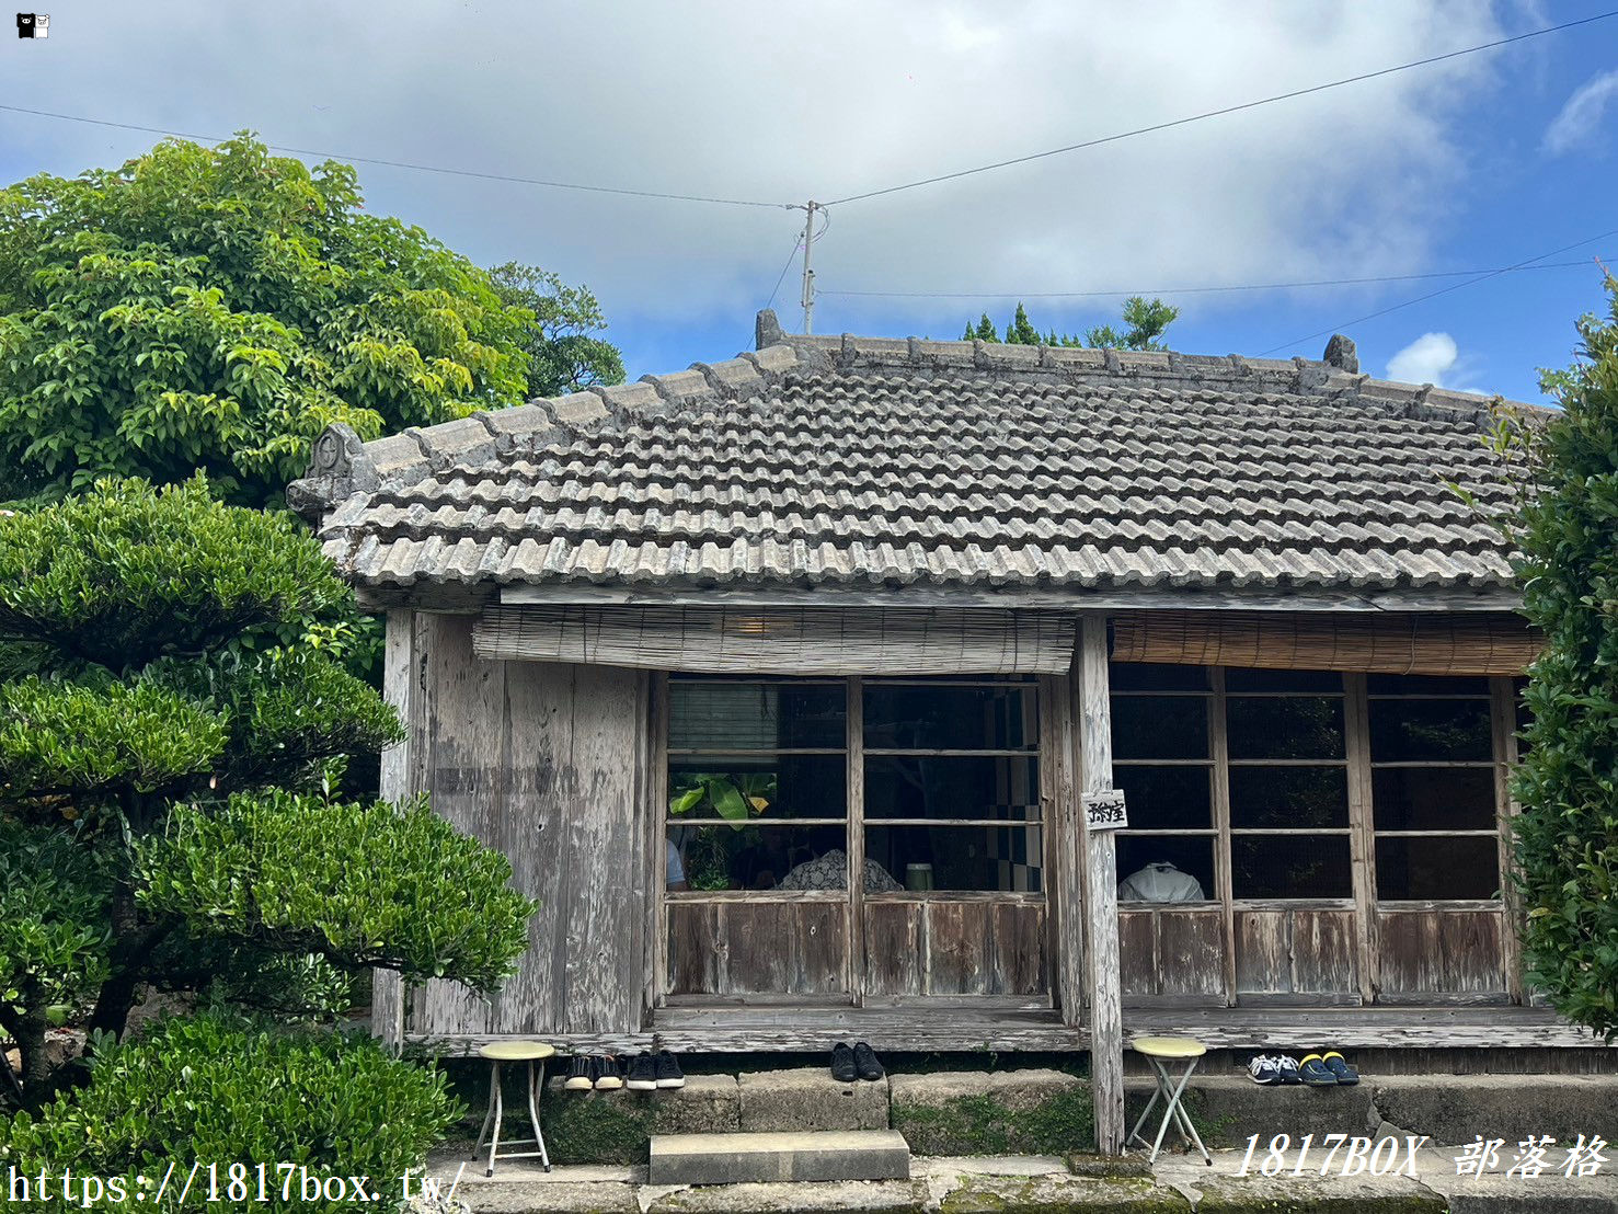
[(676, 751), (841, 749), (841, 683), (668, 683), (668, 748)]

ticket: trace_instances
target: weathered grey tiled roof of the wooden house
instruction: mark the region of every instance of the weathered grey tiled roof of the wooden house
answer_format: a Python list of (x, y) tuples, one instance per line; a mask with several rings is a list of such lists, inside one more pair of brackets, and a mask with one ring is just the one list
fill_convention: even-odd
[(1332, 361), (798, 337), (377, 442), (290, 499), (358, 584), (1468, 594), (1490, 401)]

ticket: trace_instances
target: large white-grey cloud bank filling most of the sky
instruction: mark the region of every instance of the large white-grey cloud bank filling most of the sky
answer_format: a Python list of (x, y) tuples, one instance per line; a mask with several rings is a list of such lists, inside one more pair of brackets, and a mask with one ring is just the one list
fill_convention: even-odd
[[(349, 155), (780, 202), (1010, 159), (1503, 32), (1476, 0), (398, 0), (385, 11), (86, 0), (74, 13), (45, 55), (13, 39), (0, 60), (8, 97), (204, 134), (251, 126), (270, 142)], [(882, 316), (885, 330), (953, 337), (981, 308), (837, 290), (1032, 296), (1409, 272), (1464, 173), (1458, 115), (1495, 71), (1487, 57), (1450, 60), (833, 207), (815, 248), (827, 293), (817, 329), (870, 332)], [(150, 141), (0, 115), (0, 165), (15, 176), (118, 163)], [(367, 165), (361, 181), (371, 209), (484, 264), (539, 262), (589, 283), (618, 327), (712, 317), (735, 325), (738, 343), (803, 222)], [(788, 274), (778, 308), (796, 283)], [(1063, 324), (1055, 309), (1040, 319)], [(794, 325), (796, 309), (783, 320)]]

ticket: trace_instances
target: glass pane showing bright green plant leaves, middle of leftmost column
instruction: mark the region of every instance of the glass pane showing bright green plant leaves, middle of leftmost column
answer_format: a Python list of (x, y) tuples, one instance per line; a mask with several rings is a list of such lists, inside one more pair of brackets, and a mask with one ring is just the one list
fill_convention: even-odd
[(780, 754), (668, 761), (668, 817), (773, 822), (845, 817), (848, 761), (841, 754)]

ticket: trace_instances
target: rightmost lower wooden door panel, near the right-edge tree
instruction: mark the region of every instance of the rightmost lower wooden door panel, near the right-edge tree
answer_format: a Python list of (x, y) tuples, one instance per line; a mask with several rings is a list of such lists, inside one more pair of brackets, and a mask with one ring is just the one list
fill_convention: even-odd
[(1377, 913), (1382, 1002), (1506, 1002), (1498, 910)]

